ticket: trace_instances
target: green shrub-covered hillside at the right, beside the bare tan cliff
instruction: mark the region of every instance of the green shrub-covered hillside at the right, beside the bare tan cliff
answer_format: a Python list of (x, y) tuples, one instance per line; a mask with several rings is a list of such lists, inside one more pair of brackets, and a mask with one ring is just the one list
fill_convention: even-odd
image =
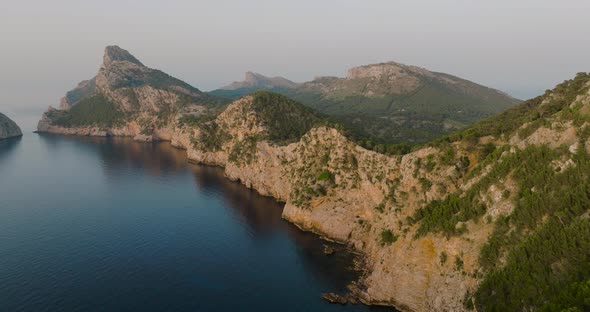
[[(443, 150), (455, 142), (479, 151), (483, 159), (468, 176), (487, 166), (491, 170), (470, 189), (418, 210), (413, 217), (419, 222), (417, 236), (460, 235), (466, 229), (458, 227), (459, 222), (484, 222), (480, 219), (487, 207), (481, 192), (491, 184), (502, 185), (507, 177), (517, 185), (516, 194), (504, 191), (515, 209), (496, 221), (481, 250), (480, 274), (486, 275), (477, 292), (467, 298), (468, 307), (475, 304), (479, 311), (590, 309), (590, 155), (583, 148), (590, 136), (589, 127), (583, 125), (590, 122), (590, 115), (581, 105), (570, 107), (578, 95), (588, 92), (589, 83), (590, 75), (579, 74), (544, 96), (433, 143)], [(506, 153), (509, 137), (517, 133), (526, 137), (553, 121), (576, 127), (582, 147), (575, 154), (567, 146), (551, 149), (546, 145)], [(497, 146), (479, 143), (486, 136), (492, 136)], [(562, 159), (571, 159), (573, 165), (555, 168), (553, 164)]]

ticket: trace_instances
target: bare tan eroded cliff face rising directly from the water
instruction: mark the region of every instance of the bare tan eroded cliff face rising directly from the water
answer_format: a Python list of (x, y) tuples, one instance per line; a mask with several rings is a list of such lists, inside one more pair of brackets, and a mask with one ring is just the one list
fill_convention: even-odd
[[(366, 255), (368, 275), (355, 296), (368, 304), (394, 305), (403, 310), (462, 310), (465, 293), (477, 280), (461, 274), (452, 261), (440, 263), (440, 254), (464, 256), (466, 268), (476, 266), (478, 250), (490, 227), (470, 226), (470, 237), (427, 235), (414, 240), (417, 226), (406, 221), (425, 203), (457, 189), (460, 174), (454, 166), (426, 171), (418, 159), (438, 151), (424, 148), (405, 156), (389, 157), (361, 148), (338, 130), (319, 127), (299, 142), (277, 145), (265, 140), (260, 117), (252, 111), (252, 98), (230, 104), (208, 125), (188, 127), (172, 123), (140, 134), (137, 122), (123, 127), (63, 128), (44, 126), (48, 132), (76, 135), (123, 135), (136, 140), (170, 140), (187, 150), (192, 161), (225, 168), (229, 179), (286, 203), (283, 217), (302, 229), (347, 243)], [(215, 148), (202, 143), (203, 129), (217, 129)], [(253, 145), (247, 145), (253, 144)], [(329, 173), (326, 173), (329, 172)], [(322, 174), (328, 178), (321, 178)], [(420, 179), (432, 181), (429, 189)], [(379, 208), (381, 207), (381, 208)], [(383, 245), (381, 233), (399, 237)]]

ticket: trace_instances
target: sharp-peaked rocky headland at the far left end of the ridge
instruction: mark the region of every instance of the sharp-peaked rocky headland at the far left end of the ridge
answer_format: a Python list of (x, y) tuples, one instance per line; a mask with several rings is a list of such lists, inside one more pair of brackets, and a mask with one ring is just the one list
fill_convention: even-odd
[(108, 46), (98, 74), (69, 91), (60, 109), (50, 107), (38, 130), (150, 139), (179, 115), (215, 113), (224, 103)]

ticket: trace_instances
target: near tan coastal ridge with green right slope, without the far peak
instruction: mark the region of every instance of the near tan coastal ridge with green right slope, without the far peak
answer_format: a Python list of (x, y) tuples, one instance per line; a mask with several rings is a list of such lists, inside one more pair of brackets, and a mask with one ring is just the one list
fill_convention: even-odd
[[(400, 73), (396, 66), (387, 71)], [(381, 75), (363, 68), (349, 76)], [(167, 102), (140, 97), (144, 109), (116, 126), (54, 125), (49, 113), (42, 128), (170, 140), (191, 160), (224, 167), (228, 178), (284, 201), (285, 219), (362, 252), (367, 274), (353, 294), (368, 304), (404, 311), (535, 310), (558, 302), (552, 296), (559, 292), (551, 289), (590, 278), (585, 247), (555, 249), (560, 237), (569, 237), (563, 245), (590, 246), (583, 234), (590, 229), (590, 75), (398, 156), (362, 148), (328, 126), (273, 122), (281, 112), (316, 119), (284, 98), (264, 98), (272, 100), (255, 94), (215, 117), (179, 110), (158, 122), (151, 112)], [(122, 97), (115, 99), (125, 107)], [(155, 118), (149, 136), (142, 134), (144, 118)], [(552, 199), (558, 196), (565, 197)], [(559, 230), (570, 228), (582, 235)], [(553, 247), (548, 252), (533, 242)]]

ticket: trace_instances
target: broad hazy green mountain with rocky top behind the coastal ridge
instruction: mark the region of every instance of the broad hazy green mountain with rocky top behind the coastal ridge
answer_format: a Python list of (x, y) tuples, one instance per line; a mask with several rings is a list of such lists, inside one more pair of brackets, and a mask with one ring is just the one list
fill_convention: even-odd
[[(444, 73), (389, 62), (352, 68), (345, 78), (303, 84), (241, 83), (211, 94), (237, 98), (256, 90), (289, 96), (335, 117), (373, 143), (420, 143), (519, 102), (505, 93)], [(370, 147), (370, 146), (367, 146)]]

